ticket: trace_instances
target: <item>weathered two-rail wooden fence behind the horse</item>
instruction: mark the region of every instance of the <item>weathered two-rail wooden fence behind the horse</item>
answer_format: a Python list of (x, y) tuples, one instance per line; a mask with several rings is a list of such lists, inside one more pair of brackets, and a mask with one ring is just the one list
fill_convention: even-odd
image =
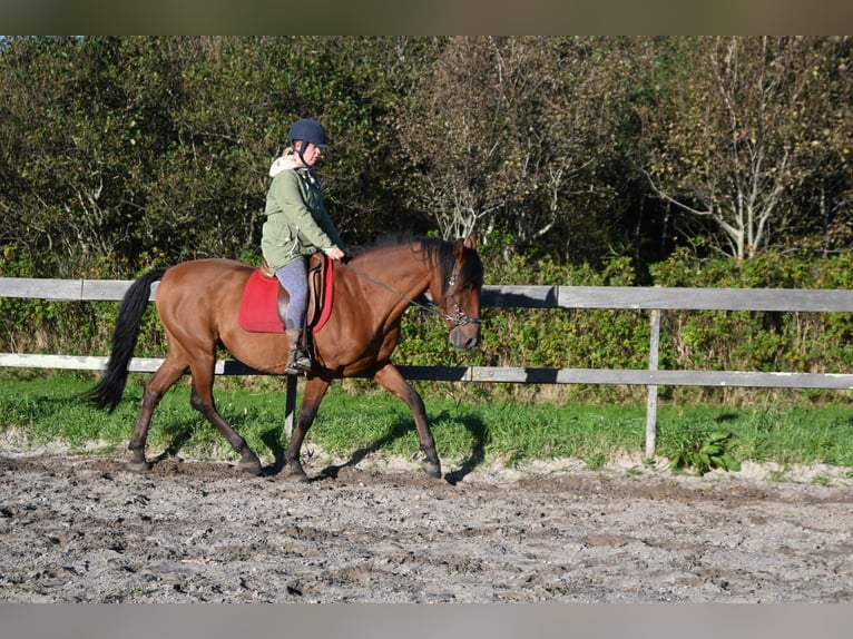
[[(57, 302), (118, 302), (129, 281), (31, 279), (0, 277), (0, 297)], [(151, 299), (156, 296), (156, 285)], [(486, 286), (482, 305), (516, 308), (611, 308), (648, 311), (648, 367), (537, 368), (528, 366), (400, 366), (410, 380), (503, 382), (521, 384), (628, 384), (648, 387), (646, 456), (655, 454), (658, 386), (748, 386), (853, 390), (853, 374), (753, 371), (661, 371), (658, 368), (661, 311), (777, 311), (853, 313), (853, 291), (791, 288), (663, 288), (627, 286)], [(102, 370), (107, 357), (0, 353), (0, 366)], [(159, 358), (134, 357), (128, 370), (154, 372)], [(216, 363), (220, 375), (264, 375), (241, 362)], [(296, 402), (296, 377), (288, 376), (285, 429), (290, 434)]]

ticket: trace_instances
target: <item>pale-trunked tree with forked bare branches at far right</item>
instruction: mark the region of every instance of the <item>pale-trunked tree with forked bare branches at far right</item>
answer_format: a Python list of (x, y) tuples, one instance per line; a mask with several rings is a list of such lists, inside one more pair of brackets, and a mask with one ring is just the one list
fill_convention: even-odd
[(639, 109), (638, 164), (683, 228), (707, 219), (720, 252), (751, 257), (800, 226), (797, 195), (827, 164), (849, 166), (837, 140), (849, 139), (850, 106), (827, 100), (837, 51), (820, 38), (663, 43), (649, 58), (659, 90)]

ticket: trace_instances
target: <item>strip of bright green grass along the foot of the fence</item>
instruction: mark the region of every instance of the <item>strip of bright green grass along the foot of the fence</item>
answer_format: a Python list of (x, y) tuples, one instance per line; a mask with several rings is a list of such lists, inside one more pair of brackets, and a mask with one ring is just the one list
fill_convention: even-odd
[[(0, 435), (32, 448), (58, 443), (80, 453), (122, 451), (146, 379), (131, 375), (125, 400), (110, 414), (75, 401), (94, 383), (90, 373), (0, 372)], [(284, 380), (276, 377), (217, 380), (219, 412), (265, 461), (286, 445), (284, 387)], [(657, 452), (671, 458), (722, 431), (732, 433), (727, 452), (739, 461), (853, 468), (853, 406), (849, 397), (841, 393), (837, 397), (836, 403), (818, 406), (807, 400), (790, 405), (767, 400), (743, 407), (664, 404), (658, 407)], [(459, 402), (448, 393), (424, 393), (424, 402), (445, 464), (577, 459), (596, 470), (618, 455), (645, 451), (645, 405)], [(373, 451), (411, 458), (419, 446), (402, 402), (372, 385), (339, 383), (324, 399), (308, 433), (306, 449), (312, 448), (333, 456)], [(154, 413), (148, 454), (163, 451), (193, 459), (236, 459), (224, 438), (190, 407), (187, 380)]]

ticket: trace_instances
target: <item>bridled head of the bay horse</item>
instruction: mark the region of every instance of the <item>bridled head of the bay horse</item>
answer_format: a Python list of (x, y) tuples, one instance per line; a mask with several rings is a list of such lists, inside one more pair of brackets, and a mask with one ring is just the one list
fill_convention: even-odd
[(450, 342), (460, 351), (480, 343), (480, 293), (483, 287), (483, 265), (477, 254), (473, 234), (453, 244), (453, 263), (445, 275), (441, 293), (432, 297), (444, 315)]

